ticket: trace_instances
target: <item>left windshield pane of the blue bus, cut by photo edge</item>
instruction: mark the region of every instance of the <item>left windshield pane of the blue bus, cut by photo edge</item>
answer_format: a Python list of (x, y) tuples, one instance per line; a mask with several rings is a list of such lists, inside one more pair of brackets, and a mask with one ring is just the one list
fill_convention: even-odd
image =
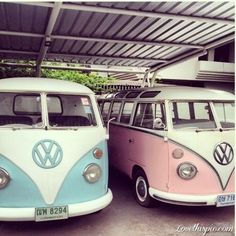
[(0, 127), (32, 127), (39, 120), (40, 94), (0, 93)]

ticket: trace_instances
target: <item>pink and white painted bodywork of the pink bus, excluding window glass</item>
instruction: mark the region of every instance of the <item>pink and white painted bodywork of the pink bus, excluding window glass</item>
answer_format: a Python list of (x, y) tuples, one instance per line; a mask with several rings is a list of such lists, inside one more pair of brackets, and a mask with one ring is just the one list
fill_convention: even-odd
[[(158, 93), (142, 98), (142, 94), (148, 91)], [(123, 91), (99, 103), (105, 120), (112, 117), (113, 104), (121, 103), (119, 115), (110, 122), (109, 158), (112, 166), (134, 180), (138, 202), (149, 206), (150, 198), (154, 198), (181, 205), (217, 205), (219, 197), (227, 196), (232, 200), (230, 205), (233, 204), (235, 131), (234, 127), (222, 128), (212, 103), (223, 101), (233, 104), (234, 95), (219, 90), (179, 86), (140, 89), (136, 90), (138, 95), (135, 98), (129, 96), (134, 92)], [(170, 109), (173, 101), (209, 103), (216, 127), (176, 129)], [(130, 121), (125, 124), (122, 112), (127, 102), (133, 103), (133, 108)], [(136, 126), (138, 104), (156, 102), (165, 107), (163, 129)], [(103, 112), (104, 103), (110, 103), (108, 110), (106, 105), (106, 112)], [(193, 178), (179, 176), (178, 168), (184, 163), (195, 166)]]

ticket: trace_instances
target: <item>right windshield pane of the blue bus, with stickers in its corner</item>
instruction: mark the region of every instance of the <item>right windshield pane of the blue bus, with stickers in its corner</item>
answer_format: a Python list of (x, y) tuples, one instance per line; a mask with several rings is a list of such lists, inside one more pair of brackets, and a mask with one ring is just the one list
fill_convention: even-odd
[(94, 126), (96, 120), (88, 96), (47, 95), (48, 119), (52, 127)]

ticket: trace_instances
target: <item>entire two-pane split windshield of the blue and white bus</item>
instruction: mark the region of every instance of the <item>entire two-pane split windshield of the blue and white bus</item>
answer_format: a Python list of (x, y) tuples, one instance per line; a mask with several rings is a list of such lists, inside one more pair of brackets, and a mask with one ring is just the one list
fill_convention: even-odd
[[(42, 100), (46, 101), (43, 105)], [(43, 107), (48, 114), (43, 115)], [(48, 124), (46, 119), (48, 117)], [(85, 95), (0, 93), (0, 127), (40, 128), (96, 125), (91, 101)]]

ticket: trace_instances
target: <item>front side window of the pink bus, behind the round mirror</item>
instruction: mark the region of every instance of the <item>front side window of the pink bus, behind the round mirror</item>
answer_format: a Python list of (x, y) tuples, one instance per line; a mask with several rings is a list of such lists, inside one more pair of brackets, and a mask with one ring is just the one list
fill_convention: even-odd
[(162, 103), (139, 103), (134, 126), (163, 129), (165, 127), (164, 105)]

